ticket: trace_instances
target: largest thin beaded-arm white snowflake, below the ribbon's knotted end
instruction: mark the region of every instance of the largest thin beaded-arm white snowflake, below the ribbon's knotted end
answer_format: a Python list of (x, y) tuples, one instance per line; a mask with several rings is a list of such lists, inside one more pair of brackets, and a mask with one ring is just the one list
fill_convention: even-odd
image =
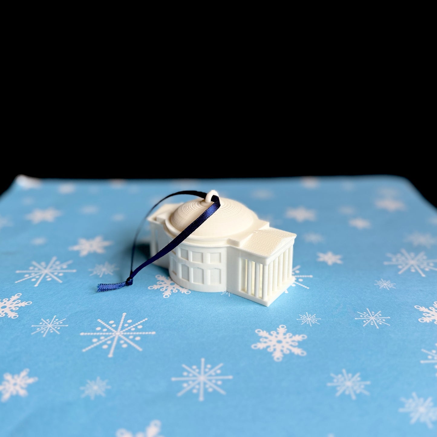
[[(100, 337), (99, 339), (94, 338), (93, 344), (86, 347), (85, 349), (82, 349), (82, 352), (86, 352), (87, 350), (90, 350), (93, 347), (99, 346), (101, 344), (103, 349), (108, 349), (109, 345), (112, 343), (108, 357), (113, 357), (114, 349), (118, 342), (121, 344), (121, 347), (128, 347), (128, 344), (130, 344), (131, 346), (135, 347), (135, 349), (141, 351), (141, 347), (139, 347), (138, 344), (134, 343), (132, 340), (138, 341), (141, 339), (141, 337), (139, 337), (140, 335), (155, 334), (155, 331), (135, 332), (135, 327), (141, 329), (141, 323), (145, 322), (147, 319), (142, 319), (139, 322), (134, 323), (133, 325), (129, 325), (129, 323), (132, 323), (132, 320), (129, 319), (127, 323), (124, 323), (125, 317), (126, 313), (124, 312), (121, 316), (121, 320), (117, 329), (114, 329), (117, 326), (114, 323), (114, 320), (111, 320), (108, 324), (103, 322), (101, 319), (97, 319), (97, 321), (104, 326), (103, 329), (101, 328), (101, 326), (97, 326), (97, 332), (81, 332), (80, 335), (96, 335)], [(123, 326), (125, 327), (121, 329)]]

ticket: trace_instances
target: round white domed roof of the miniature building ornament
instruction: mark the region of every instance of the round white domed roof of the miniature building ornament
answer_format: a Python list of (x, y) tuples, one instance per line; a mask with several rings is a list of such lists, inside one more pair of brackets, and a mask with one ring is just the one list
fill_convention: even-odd
[[(191, 234), (192, 236), (226, 238), (245, 231), (257, 220), (257, 215), (240, 202), (221, 197), (219, 199), (220, 208), (205, 220)], [(185, 202), (173, 212), (170, 223), (179, 231), (183, 231), (211, 205), (212, 202), (201, 198)]]

